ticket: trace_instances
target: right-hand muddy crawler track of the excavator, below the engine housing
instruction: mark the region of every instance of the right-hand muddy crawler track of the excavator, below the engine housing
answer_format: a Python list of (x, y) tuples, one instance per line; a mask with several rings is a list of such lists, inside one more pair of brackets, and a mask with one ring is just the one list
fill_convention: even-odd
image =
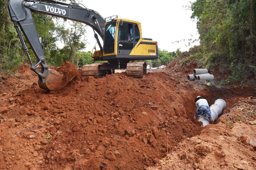
[(147, 64), (143, 62), (127, 63), (126, 75), (128, 77), (143, 78), (147, 74)]

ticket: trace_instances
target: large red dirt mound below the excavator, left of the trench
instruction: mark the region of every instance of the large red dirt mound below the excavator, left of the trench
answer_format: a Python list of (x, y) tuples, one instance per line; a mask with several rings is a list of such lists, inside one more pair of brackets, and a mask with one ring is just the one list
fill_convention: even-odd
[(51, 92), (29, 87), (15, 95), (3, 115), (10, 128), (2, 133), (15, 137), (2, 137), (0, 148), (9, 149), (0, 167), (11, 162), (13, 169), (153, 166), (181, 140), (200, 133), (202, 127), (187, 119), (196, 109), (187, 101), (206, 92), (198, 86), (184, 96), (188, 82), (164, 73), (143, 79), (124, 74), (81, 78)]

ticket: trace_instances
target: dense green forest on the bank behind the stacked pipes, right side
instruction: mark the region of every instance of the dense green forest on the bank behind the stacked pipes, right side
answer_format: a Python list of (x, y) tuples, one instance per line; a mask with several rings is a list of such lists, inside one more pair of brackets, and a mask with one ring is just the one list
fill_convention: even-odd
[(227, 84), (256, 78), (256, 1), (196, 0), (191, 10), (200, 46), (182, 62), (218, 71)]

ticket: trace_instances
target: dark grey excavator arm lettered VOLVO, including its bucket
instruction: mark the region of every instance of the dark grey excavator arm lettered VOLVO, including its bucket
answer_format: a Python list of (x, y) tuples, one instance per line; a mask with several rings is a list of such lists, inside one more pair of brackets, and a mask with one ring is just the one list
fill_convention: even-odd
[[(22, 48), (24, 52), (26, 52), (28, 60), (31, 64), (30, 69), (38, 75), (38, 85), (46, 90), (55, 89), (55, 87), (60, 84), (63, 75), (56, 70), (50, 69), (47, 65), (31, 11), (84, 23), (92, 27), (92, 29), (96, 31), (103, 39), (105, 19), (98, 12), (82, 7), (80, 4), (66, 3), (57, 0), (9, 0), (8, 9), (11, 20), (14, 23), (14, 27), (20, 38)], [(31, 62), (28, 54), (28, 48), (24, 42), (20, 30), (26, 37), (31, 49), (36, 55), (37, 62), (34, 64)], [(100, 49), (102, 50), (97, 33), (95, 33), (94, 36), (100, 46)], [(39, 64), (41, 65), (41, 71), (37, 70), (37, 66)]]

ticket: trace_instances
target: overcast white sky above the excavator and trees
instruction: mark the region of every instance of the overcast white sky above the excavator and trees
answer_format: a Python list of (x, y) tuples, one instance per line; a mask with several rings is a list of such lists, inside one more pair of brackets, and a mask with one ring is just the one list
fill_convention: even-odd
[[(118, 15), (118, 18), (139, 21), (142, 37), (152, 38), (158, 47), (168, 51), (188, 50), (187, 41), (172, 43), (182, 39), (197, 39), (196, 21), (190, 19), (192, 11), (185, 6), (195, 0), (82, 0), (86, 8), (99, 12), (104, 18)], [(192, 35), (192, 36), (191, 36)], [(87, 26), (86, 51), (91, 51), (96, 43), (92, 28)], [(195, 44), (199, 44), (196, 42)], [(195, 45), (193, 44), (193, 45)], [(99, 49), (96, 47), (97, 50)]]

